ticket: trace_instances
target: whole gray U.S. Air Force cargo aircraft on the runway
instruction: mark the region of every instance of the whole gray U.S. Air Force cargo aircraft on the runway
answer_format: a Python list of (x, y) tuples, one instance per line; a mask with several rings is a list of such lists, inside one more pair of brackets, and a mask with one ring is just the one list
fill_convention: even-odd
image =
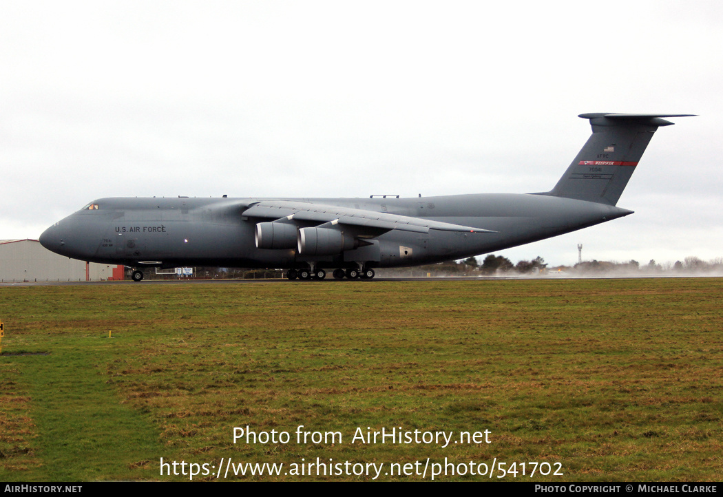
[(108, 198), (40, 235), (57, 254), (142, 267), (288, 269), (289, 280), (368, 279), (378, 267), (462, 259), (627, 216), (615, 207), (664, 117), (587, 113), (592, 135), (547, 192), (400, 199)]

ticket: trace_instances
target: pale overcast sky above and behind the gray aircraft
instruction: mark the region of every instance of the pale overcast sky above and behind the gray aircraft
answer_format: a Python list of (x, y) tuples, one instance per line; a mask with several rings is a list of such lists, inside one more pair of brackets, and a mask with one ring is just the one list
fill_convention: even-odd
[(636, 214), (502, 254), (723, 256), (721, 1), (0, 0), (0, 238), (103, 196), (547, 191), (586, 112), (659, 129)]

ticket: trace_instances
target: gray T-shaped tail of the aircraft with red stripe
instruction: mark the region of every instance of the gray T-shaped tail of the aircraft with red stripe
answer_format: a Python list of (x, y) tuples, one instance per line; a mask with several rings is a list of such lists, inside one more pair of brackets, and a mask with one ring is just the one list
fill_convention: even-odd
[(592, 134), (555, 188), (544, 195), (617, 204), (625, 185), (664, 117), (693, 114), (588, 113)]

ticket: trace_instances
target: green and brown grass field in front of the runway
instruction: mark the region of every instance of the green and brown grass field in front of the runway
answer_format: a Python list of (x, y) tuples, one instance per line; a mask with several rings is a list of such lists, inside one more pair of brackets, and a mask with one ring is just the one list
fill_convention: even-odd
[[(208, 464), (194, 480), (222, 457), (285, 464), (228, 480), (375, 477), (284, 474), (317, 457), (378, 480), (427, 458), (466, 464), (440, 480), (723, 474), (719, 278), (31, 286), (0, 288), (0, 320), (0, 480), (189, 480), (161, 457)], [(234, 444), (247, 425), (291, 441)], [(352, 444), (367, 427), (489, 444)]]

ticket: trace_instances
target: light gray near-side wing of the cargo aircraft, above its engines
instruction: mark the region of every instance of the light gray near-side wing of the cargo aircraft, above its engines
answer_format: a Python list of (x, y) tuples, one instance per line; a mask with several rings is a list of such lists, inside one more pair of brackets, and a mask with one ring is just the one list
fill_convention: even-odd
[(429, 230), (459, 231), (463, 233), (495, 233), (491, 230), (455, 225), (450, 222), (432, 221), (422, 217), (401, 216), (388, 212), (375, 212), (366, 209), (351, 209), (333, 205), (310, 204), (288, 200), (264, 200), (252, 204), (244, 211), (244, 217), (257, 217), (270, 220), (288, 220), (334, 225), (349, 225), (368, 230), (411, 231), (429, 233)]

